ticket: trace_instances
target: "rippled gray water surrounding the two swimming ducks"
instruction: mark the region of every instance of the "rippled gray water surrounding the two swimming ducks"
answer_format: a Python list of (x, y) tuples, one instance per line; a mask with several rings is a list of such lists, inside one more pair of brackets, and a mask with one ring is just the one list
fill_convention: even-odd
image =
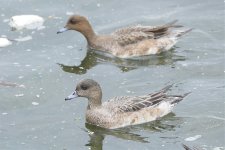
[[(194, 30), (167, 53), (122, 60), (87, 51), (77, 32), (56, 35), (71, 12), (98, 33), (175, 19)], [(8, 19), (22, 14), (42, 16), (45, 28), (11, 31)], [(222, 0), (1, 0), (0, 36), (32, 39), (0, 48), (0, 149), (224, 150), (224, 19)], [(101, 84), (104, 101), (170, 83), (171, 93), (192, 93), (157, 121), (104, 130), (85, 125), (87, 100), (64, 101), (84, 78)]]

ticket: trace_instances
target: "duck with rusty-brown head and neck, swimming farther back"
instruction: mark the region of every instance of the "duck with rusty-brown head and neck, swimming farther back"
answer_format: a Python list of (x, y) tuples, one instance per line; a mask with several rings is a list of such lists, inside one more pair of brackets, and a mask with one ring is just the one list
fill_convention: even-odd
[(180, 29), (177, 20), (158, 26), (135, 25), (117, 29), (108, 35), (98, 35), (84, 16), (72, 15), (64, 28), (57, 34), (68, 30), (80, 32), (87, 40), (91, 50), (111, 54), (119, 58), (133, 58), (155, 55), (170, 50), (185, 33), (192, 29)]

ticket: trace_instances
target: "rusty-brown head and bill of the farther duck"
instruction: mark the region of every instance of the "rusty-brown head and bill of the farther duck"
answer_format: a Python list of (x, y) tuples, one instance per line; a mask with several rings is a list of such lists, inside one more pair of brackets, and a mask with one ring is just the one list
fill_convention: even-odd
[(81, 33), (85, 31), (89, 31), (91, 29), (91, 25), (89, 24), (87, 18), (84, 16), (73, 15), (70, 16), (64, 28), (60, 29), (57, 34), (63, 33), (68, 30), (75, 30)]

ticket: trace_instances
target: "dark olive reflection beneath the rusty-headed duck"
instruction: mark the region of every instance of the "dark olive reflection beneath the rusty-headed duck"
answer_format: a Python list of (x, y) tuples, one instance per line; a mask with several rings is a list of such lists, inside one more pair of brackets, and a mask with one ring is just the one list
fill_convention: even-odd
[(88, 50), (86, 57), (81, 61), (79, 66), (67, 66), (58, 64), (63, 71), (75, 74), (85, 74), (89, 69), (97, 66), (98, 64), (112, 64), (121, 69), (122, 72), (127, 72), (137, 69), (140, 66), (150, 65), (172, 65), (176, 61), (184, 61), (183, 56), (178, 56), (173, 53), (173, 50), (161, 53), (159, 55), (144, 56), (133, 59), (121, 59), (109, 56), (105, 53), (98, 51)]

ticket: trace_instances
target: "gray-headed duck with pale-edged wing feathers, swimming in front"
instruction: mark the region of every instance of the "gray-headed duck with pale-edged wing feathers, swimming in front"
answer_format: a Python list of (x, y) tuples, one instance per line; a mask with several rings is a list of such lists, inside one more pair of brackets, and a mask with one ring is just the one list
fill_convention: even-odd
[(154, 121), (170, 113), (174, 105), (189, 94), (166, 94), (171, 87), (168, 85), (160, 91), (142, 96), (116, 96), (102, 102), (100, 85), (93, 79), (83, 79), (65, 100), (87, 98), (86, 123), (116, 129)]

